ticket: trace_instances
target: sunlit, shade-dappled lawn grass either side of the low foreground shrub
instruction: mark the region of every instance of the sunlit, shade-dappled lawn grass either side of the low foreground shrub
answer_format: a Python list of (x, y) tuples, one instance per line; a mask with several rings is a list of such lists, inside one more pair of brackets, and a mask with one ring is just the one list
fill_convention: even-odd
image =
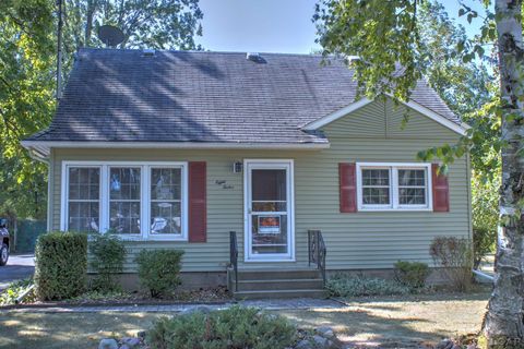
[[(282, 310), (302, 327), (331, 326), (347, 342), (438, 341), (477, 332), (488, 293), (355, 299), (344, 309)], [(0, 348), (96, 348), (134, 336), (166, 313), (0, 313)]]

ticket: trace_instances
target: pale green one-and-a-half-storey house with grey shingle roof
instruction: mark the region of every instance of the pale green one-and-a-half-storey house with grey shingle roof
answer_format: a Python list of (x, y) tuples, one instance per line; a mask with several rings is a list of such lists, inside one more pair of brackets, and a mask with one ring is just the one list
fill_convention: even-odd
[(321, 272), (385, 275), (471, 237), (468, 156), (446, 176), (416, 160), (464, 135), (460, 118), (425, 82), (408, 103), (357, 99), (352, 70), (321, 62), (80, 50), (51, 125), (22, 143), (49, 165), (48, 229), (118, 232), (129, 279), (142, 249), (182, 249), (192, 286), (225, 284), (231, 262), (247, 280), (317, 279), (322, 241)]

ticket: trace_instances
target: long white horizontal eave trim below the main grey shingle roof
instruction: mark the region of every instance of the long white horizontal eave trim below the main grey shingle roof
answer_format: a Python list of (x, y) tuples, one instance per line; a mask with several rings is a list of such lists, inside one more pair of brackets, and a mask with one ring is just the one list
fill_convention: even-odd
[(132, 149), (326, 149), (330, 143), (240, 143), (240, 142), (73, 142), (22, 141), (22, 146), (45, 160), (50, 148), (132, 148)]

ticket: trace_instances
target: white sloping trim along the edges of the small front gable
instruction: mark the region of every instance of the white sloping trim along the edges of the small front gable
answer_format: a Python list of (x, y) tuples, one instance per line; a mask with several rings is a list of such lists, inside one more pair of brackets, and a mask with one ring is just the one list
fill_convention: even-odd
[[(391, 95), (388, 94), (388, 97), (392, 98)], [(359, 99), (358, 101), (355, 101), (355, 103), (352, 103), (350, 105), (342, 108), (342, 109), (338, 109), (325, 117), (322, 117), (318, 120), (314, 120), (313, 122), (310, 122), (308, 124), (306, 124), (302, 130), (306, 130), (306, 131), (312, 131), (312, 130), (318, 130), (335, 120), (338, 120), (340, 118), (343, 118), (345, 116), (347, 116), (348, 113), (355, 111), (355, 110), (358, 110), (365, 106), (367, 106), (368, 104), (370, 104), (371, 101), (373, 101), (372, 99), (369, 99), (369, 98), (361, 98)], [(429, 108), (426, 108), (424, 107), (422, 105), (414, 101), (414, 100), (409, 100), (409, 101), (402, 101), (401, 103), (403, 105), (405, 105), (406, 107), (409, 107), (412, 108), (413, 110), (415, 111), (418, 111), (419, 113), (421, 113), (422, 116), (426, 116), (428, 117), (429, 119), (440, 123), (441, 125), (450, 129), (451, 131), (454, 131), (461, 135), (466, 135), (466, 131), (469, 127), (467, 127), (465, 123), (462, 123), (462, 124), (456, 124), (454, 123), (453, 121), (450, 121), (448, 120), (446, 118), (442, 117), (441, 115), (432, 111), (431, 109)]]

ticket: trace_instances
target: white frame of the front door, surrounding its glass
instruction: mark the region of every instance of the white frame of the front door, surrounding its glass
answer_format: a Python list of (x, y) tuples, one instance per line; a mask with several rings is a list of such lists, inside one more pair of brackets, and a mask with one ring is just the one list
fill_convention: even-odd
[[(286, 169), (287, 180), (287, 233), (288, 249), (286, 254), (265, 254), (253, 256), (251, 254), (251, 169)], [(270, 213), (269, 213), (270, 214)], [(274, 214), (274, 213), (271, 213)], [(243, 160), (243, 261), (245, 262), (295, 262), (295, 164), (293, 159), (245, 159)]]

